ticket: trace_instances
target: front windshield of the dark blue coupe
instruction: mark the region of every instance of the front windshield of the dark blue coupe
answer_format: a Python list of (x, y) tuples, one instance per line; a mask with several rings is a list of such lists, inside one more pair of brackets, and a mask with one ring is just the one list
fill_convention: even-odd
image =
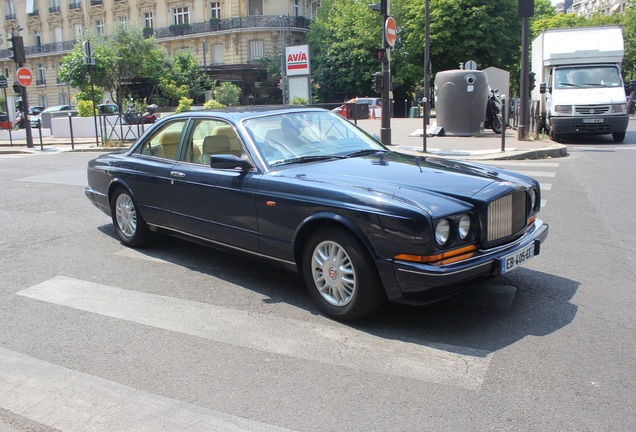
[(270, 167), (386, 151), (382, 144), (330, 111), (285, 112), (251, 118), (243, 125)]

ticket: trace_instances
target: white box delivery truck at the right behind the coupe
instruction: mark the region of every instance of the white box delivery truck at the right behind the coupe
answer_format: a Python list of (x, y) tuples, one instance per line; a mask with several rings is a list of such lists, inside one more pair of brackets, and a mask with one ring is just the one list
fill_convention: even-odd
[(538, 124), (554, 141), (567, 135), (625, 139), (629, 120), (621, 26), (544, 30), (532, 42)]

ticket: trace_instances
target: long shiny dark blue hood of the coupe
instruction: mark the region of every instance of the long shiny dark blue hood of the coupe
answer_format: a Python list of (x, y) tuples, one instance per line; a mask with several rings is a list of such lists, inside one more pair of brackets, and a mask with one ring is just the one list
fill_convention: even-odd
[(272, 175), (318, 182), (322, 188), (365, 191), (385, 199), (410, 202), (429, 214), (487, 202), (518, 187), (538, 185), (527, 176), (486, 165), (397, 152), (377, 153), (307, 164), (288, 165)]

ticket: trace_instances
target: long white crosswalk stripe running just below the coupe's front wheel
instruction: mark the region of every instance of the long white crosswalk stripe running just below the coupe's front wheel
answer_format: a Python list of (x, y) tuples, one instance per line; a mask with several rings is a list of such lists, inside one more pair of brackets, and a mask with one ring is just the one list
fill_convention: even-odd
[(57, 276), (24, 297), (217, 342), (371, 373), (479, 390), (492, 353), (400, 341), (322, 325)]

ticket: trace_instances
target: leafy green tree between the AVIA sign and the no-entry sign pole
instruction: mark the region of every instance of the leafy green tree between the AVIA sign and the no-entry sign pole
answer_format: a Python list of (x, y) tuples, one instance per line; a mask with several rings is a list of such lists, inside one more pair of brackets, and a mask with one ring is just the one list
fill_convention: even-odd
[(381, 66), (373, 52), (382, 46), (382, 18), (368, 0), (325, 0), (310, 24), (313, 78), (320, 101), (342, 101), (372, 93)]

